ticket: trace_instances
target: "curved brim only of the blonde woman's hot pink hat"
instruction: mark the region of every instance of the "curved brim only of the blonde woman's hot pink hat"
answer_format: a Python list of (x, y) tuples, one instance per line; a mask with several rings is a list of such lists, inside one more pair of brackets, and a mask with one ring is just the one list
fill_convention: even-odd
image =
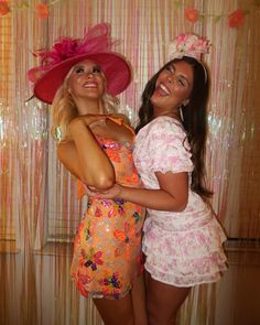
[(52, 104), (57, 89), (62, 86), (71, 68), (85, 59), (98, 64), (106, 76), (107, 93), (117, 96), (122, 93), (131, 82), (131, 68), (128, 62), (119, 54), (95, 53), (82, 54), (65, 59), (48, 69), (35, 84), (34, 96), (40, 100)]

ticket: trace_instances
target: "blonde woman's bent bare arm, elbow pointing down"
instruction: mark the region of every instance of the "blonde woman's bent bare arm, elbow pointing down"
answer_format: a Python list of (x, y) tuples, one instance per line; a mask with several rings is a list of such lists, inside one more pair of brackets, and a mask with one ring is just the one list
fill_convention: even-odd
[(61, 162), (77, 178), (99, 189), (115, 184), (113, 166), (88, 128), (86, 118), (71, 122), (73, 141), (59, 143), (57, 154)]

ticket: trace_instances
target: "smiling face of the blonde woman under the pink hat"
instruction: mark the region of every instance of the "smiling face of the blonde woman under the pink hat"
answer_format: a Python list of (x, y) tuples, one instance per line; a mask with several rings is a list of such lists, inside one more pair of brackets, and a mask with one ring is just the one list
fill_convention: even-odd
[(95, 62), (85, 59), (73, 67), (67, 85), (76, 98), (100, 99), (105, 93), (105, 75)]

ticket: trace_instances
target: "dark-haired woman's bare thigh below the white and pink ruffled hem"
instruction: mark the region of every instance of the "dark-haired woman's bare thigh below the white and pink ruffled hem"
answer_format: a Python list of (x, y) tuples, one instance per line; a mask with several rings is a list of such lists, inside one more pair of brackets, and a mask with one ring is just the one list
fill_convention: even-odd
[(147, 272), (149, 325), (175, 325), (176, 314), (191, 288), (177, 288), (159, 282)]

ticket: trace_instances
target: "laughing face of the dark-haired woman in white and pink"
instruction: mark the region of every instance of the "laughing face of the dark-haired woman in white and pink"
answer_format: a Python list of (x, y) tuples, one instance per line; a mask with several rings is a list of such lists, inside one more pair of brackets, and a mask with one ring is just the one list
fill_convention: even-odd
[(193, 89), (193, 67), (184, 61), (169, 64), (159, 75), (151, 97), (155, 115), (171, 115), (187, 105)]

